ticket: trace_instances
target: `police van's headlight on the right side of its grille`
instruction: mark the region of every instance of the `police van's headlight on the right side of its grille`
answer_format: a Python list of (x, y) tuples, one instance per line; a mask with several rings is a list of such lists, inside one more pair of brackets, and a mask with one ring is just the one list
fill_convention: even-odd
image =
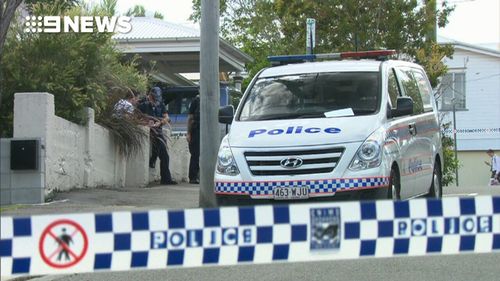
[(380, 166), (382, 163), (382, 138), (381, 131), (376, 131), (368, 137), (354, 155), (349, 169), (359, 171)]

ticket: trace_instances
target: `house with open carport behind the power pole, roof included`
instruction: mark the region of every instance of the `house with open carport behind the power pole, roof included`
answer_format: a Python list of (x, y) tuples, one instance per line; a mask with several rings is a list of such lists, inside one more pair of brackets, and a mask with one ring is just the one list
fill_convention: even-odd
[[(117, 48), (129, 57), (139, 55), (144, 66), (154, 62), (152, 76), (157, 86), (162, 88), (164, 100), (168, 103), (172, 131), (183, 134), (187, 130), (189, 104), (198, 93), (198, 84), (193, 77), (199, 79), (200, 31), (148, 17), (134, 17), (131, 24), (130, 32), (113, 35)], [(250, 56), (219, 39), (220, 72), (239, 74), (251, 61)], [(220, 84), (221, 105), (229, 104), (234, 90), (224, 80), (227, 79), (221, 79)]]

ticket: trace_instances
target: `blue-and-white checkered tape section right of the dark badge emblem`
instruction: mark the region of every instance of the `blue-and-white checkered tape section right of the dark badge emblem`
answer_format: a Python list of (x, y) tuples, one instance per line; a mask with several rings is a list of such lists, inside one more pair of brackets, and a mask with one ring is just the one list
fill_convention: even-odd
[(420, 256), (500, 250), (500, 198), (366, 202), (343, 218), (359, 256)]

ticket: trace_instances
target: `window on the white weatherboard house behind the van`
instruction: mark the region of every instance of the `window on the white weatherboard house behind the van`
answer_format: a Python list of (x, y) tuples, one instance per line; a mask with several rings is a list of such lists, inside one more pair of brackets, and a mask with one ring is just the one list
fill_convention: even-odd
[(441, 81), (441, 110), (464, 110), (465, 103), (465, 72), (449, 72)]

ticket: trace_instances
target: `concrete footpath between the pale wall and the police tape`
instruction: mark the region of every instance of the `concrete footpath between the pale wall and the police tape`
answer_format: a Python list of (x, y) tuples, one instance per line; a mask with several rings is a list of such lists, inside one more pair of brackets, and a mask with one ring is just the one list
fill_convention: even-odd
[(146, 188), (84, 188), (55, 193), (46, 203), (2, 206), (2, 216), (86, 212), (185, 209), (198, 207), (199, 185), (153, 185)]

